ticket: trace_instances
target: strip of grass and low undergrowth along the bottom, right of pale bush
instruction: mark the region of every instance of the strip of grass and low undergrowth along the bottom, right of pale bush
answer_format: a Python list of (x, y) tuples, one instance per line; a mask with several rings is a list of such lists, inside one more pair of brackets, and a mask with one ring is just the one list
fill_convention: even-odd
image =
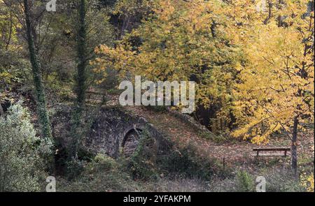
[[(127, 167), (128, 159), (115, 160), (109, 156), (97, 155), (92, 161), (83, 163), (83, 172), (76, 179), (68, 181), (63, 177), (57, 177), (57, 191), (255, 192), (255, 179), (258, 176), (265, 177), (267, 192), (307, 190), (300, 179), (293, 177), (288, 164), (279, 164), (279, 159), (265, 160), (259, 165), (253, 164), (255, 170), (235, 169), (226, 175), (222, 175), (223, 170), (218, 173), (210, 172), (211, 178), (208, 179), (196, 175), (199, 170), (200, 172), (209, 170), (207, 163), (199, 164), (199, 160), (190, 152), (181, 151), (180, 154), (169, 156), (169, 163), (175, 165), (174, 170), (167, 168), (171, 165), (164, 160), (164, 165), (156, 165), (158, 176), (146, 179), (133, 177)], [(215, 162), (211, 163), (209, 165), (211, 167), (216, 165)], [(188, 167), (185, 170), (187, 164), (195, 165), (195, 168)], [(169, 171), (165, 172), (166, 169)], [(303, 175), (314, 174), (314, 165), (304, 165), (300, 172)]]

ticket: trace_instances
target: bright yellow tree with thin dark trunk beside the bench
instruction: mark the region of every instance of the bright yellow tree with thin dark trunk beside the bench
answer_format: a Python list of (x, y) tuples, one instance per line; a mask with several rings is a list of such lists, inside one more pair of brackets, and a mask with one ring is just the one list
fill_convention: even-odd
[(247, 61), (239, 64), (241, 83), (233, 134), (267, 142), (275, 131), (292, 141), (297, 172), (297, 132), (314, 122), (314, 1), (253, 1), (230, 4), (230, 32)]

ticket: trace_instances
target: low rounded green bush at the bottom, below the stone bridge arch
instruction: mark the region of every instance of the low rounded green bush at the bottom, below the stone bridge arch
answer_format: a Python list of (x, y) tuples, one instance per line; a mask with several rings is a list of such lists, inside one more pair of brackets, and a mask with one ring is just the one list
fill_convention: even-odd
[[(121, 161), (121, 162), (120, 162)], [(112, 159), (104, 154), (97, 154), (92, 161), (80, 161), (82, 170), (76, 178), (58, 179), (58, 191), (138, 191), (138, 182), (126, 171), (125, 159)]]

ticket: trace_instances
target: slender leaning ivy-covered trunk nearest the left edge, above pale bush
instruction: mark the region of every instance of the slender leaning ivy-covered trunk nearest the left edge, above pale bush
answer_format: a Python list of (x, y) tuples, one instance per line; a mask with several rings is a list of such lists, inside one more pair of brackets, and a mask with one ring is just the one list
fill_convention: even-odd
[(31, 20), (30, 20), (30, 10), (29, 10), (29, 1), (24, 0), (25, 7), (25, 23), (27, 27), (27, 41), (29, 44), (29, 58), (31, 61), (31, 68), (33, 71), (33, 79), (36, 93), (36, 101), (37, 101), (37, 113), (38, 120), (41, 124), (42, 134), (45, 138), (49, 138), (52, 140), (52, 133), (50, 129), (50, 121), (48, 117), (48, 112), (46, 109), (46, 101), (45, 101), (45, 93), (43, 88), (43, 82), (41, 79), (41, 67), (38, 61), (38, 57), (36, 54), (35, 46), (34, 46), (34, 38), (32, 36), (31, 31)]

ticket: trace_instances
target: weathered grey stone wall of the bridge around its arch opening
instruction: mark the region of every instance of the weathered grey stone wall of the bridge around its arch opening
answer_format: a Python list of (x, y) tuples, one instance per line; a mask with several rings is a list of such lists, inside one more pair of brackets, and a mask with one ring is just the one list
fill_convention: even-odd
[[(70, 128), (69, 111), (71, 111), (71, 108), (62, 108), (52, 118), (54, 136), (59, 139), (63, 147), (67, 147), (70, 142), (69, 135), (66, 135)], [(128, 138), (137, 138), (138, 132), (144, 130), (152, 138), (155, 138), (155, 147), (158, 151), (168, 147), (165, 135), (149, 124), (146, 119), (132, 116), (122, 108), (102, 108), (94, 117), (85, 117), (85, 122), (91, 122), (92, 124), (90, 124), (90, 129), (87, 131), (82, 144), (85, 149), (94, 154), (102, 153), (117, 158), (125, 150), (130, 155), (137, 147), (137, 140)]]

